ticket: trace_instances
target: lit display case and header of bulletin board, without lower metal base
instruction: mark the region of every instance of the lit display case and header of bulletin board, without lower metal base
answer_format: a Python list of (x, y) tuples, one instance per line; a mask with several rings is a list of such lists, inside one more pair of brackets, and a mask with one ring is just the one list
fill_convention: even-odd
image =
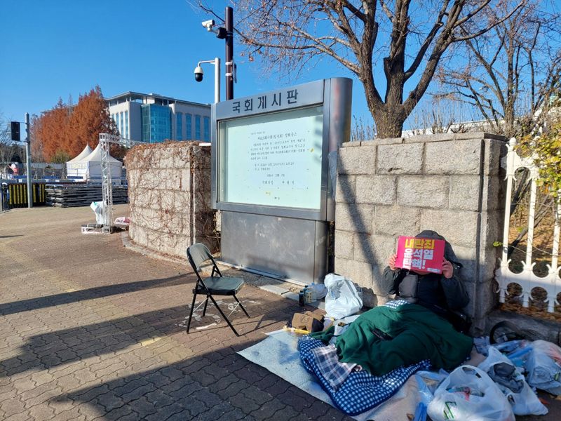
[(325, 79), (213, 105), (213, 207), (326, 220), (327, 199), (334, 199), (327, 156), (348, 140), (350, 126), (338, 119), (343, 109), (350, 114), (350, 88), (344, 97), (333, 92), (342, 84), (351, 81)]

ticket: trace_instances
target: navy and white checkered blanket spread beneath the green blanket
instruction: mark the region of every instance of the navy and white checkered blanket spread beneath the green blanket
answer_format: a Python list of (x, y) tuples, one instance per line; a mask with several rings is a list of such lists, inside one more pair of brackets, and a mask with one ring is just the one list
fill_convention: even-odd
[(325, 347), (320, 340), (303, 336), (298, 341), (300, 360), (306, 370), (318, 377), (321, 387), (329, 394), (334, 406), (337, 406), (347, 415), (357, 415), (370, 410), (398, 392), (399, 388), (417, 370), (429, 370), (431, 363), (428, 360), (412, 364), (382, 376), (374, 376), (365, 370), (351, 372), (346, 380), (336, 389), (330, 381), (323, 377), (312, 350)]

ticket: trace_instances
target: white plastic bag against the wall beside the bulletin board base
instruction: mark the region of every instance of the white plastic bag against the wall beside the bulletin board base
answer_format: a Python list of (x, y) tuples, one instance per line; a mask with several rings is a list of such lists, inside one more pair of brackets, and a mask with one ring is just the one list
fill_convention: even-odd
[(327, 288), (325, 312), (328, 317), (342, 319), (355, 314), (363, 307), (363, 298), (350, 279), (337, 274), (327, 274), (323, 283)]

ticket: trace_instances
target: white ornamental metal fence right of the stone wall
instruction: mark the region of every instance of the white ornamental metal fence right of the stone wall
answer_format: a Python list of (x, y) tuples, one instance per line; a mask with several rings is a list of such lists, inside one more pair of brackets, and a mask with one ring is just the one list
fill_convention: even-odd
[[(559, 239), (560, 239), (560, 215), (561, 204), (555, 209), (555, 220), (553, 226), (548, 227), (553, 231), (553, 248), (551, 250), (551, 260), (547, 264), (548, 274), (546, 276), (537, 276), (534, 273), (535, 260), (532, 260), (532, 245), (534, 244), (534, 223), (536, 218), (536, 179), (539, 177), (538, 168), (534, 166), (532, 159), (521, 158), (515, 151), (516, 140), (512, 138), (508, 142), (508, 154), (506, 156), (506, 206), (504, 215), (503, 228), (503, 253), (500, 259), (500, 267), (496, 271), (496, 281), (499, 283), (499, 300), (505, 302), (508, 286), (511, 283), (518, 284), (521, 287), (520, 300), (523, 307), (529, 307), (529, 298), (532, 297), (532, 289), (536, 287), (546, 290), (547, 297), (545, 302), (548, 312), (555, 310), (555, 305), (560, 305), (560, 299), (557, 294), (561, 293), (561, 277), (560, 267), (557, 266), (559, 257)], [(525, 260), (522, 260), (522, 272), (515, 273), (511, 270), (511, 259), (508, 258), (508, 239), (511, 220), (511, 201), (513, 199), (513, 184), (516, 180), (515, 175), (520, 168), (527, 168), (529, 171), (530, 198), (528, 208), (528, 231), (527, 231), (527, 248)], [(518, 271), (517, 271), (518, 272)], [(561, 298), (561, 297), (560, 297)]]

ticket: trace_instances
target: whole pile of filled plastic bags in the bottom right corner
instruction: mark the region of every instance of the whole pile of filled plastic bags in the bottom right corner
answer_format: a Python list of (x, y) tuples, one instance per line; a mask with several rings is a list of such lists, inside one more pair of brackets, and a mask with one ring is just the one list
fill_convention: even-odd
[(478, 367), (460, 366), (442, 377), (434, 391), (419, 381), (421, 401), (434, 421), (545, 415), (548, 409), (535, 391), (561, 394), (561, 348), (545, 340), (504, 342), (489, 347)]

